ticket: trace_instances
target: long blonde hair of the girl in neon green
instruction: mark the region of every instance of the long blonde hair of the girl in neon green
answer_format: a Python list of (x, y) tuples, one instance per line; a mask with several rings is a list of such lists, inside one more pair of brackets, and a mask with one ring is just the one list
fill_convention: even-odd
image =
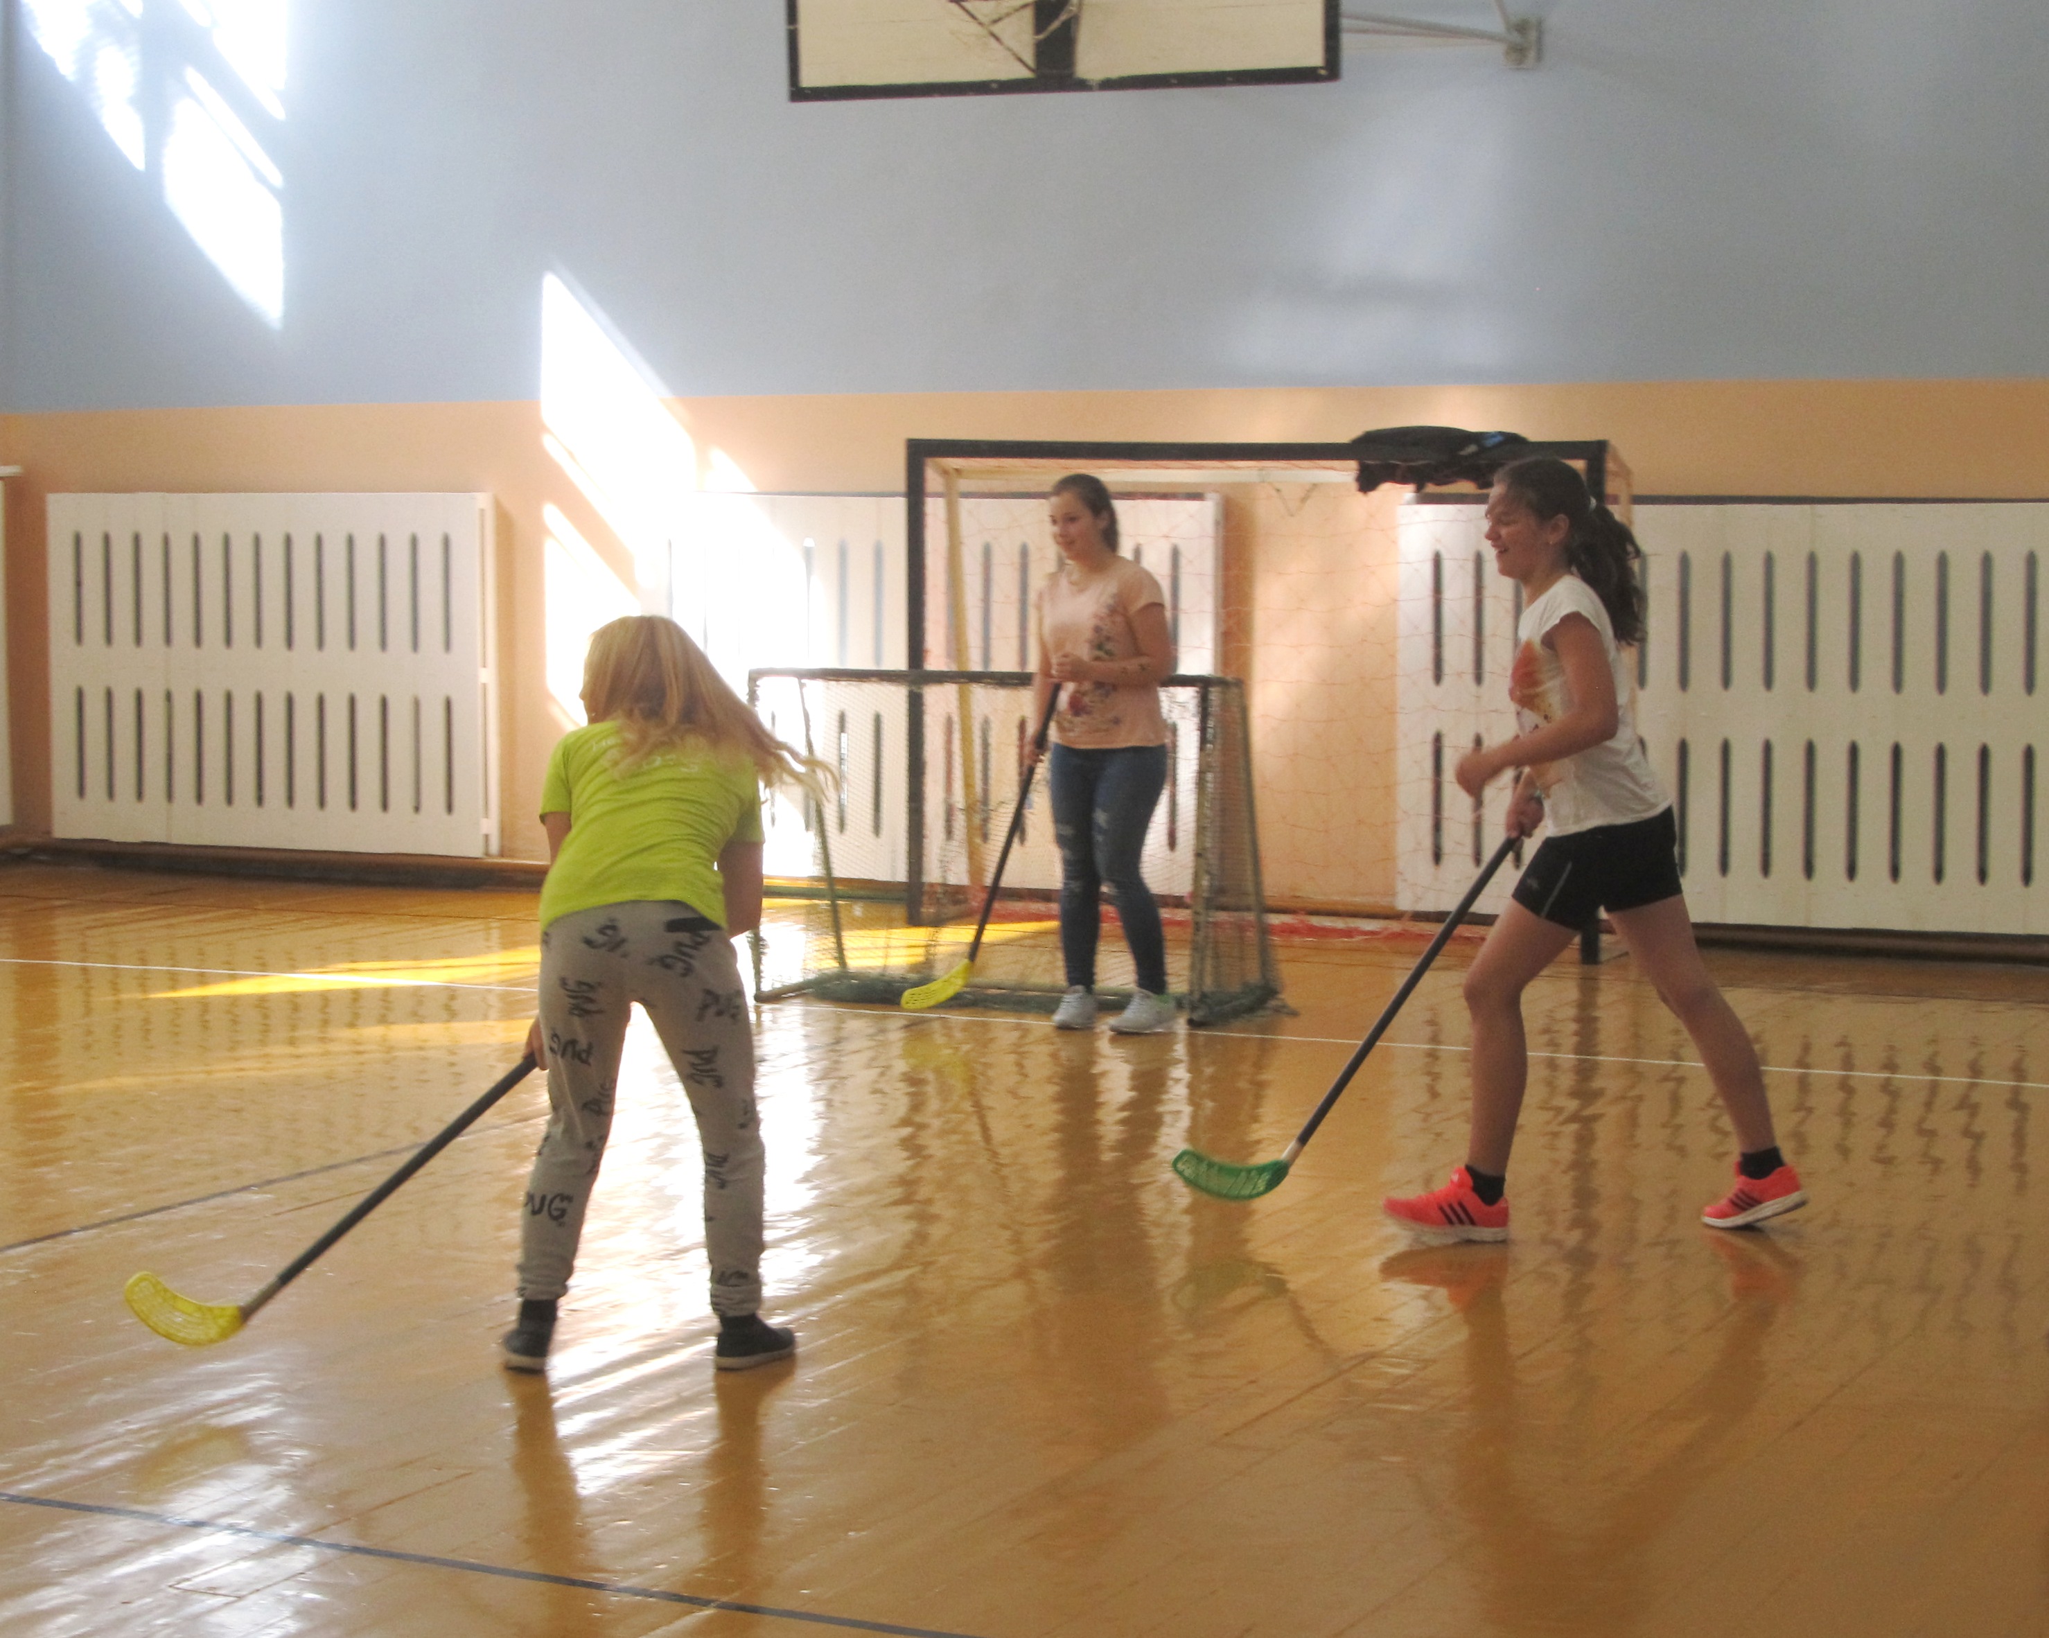
[(592, 722), (619, 724), (621, 771), (674, 750), (707, 750), (746, 756), (764, 785), (820, 795), (832, 781), (832, 769), (775, 738), (664, 615), (625, 615), (590, 633), (584, 709)]

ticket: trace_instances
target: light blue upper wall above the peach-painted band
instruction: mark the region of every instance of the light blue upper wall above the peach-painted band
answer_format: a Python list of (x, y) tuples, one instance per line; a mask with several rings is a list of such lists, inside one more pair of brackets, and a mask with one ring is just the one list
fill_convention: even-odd
[(547, 271), (676, 394), (2049, 375), (2043, 0), (801, 107), (779, 0), (293, 0), (279, 330), (6, 4), (12, 410), (531, 398)]

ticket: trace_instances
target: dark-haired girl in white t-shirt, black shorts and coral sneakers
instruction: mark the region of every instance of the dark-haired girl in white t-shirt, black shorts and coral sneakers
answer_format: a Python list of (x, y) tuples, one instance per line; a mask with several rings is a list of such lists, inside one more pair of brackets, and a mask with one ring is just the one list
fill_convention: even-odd
[(1410, 1228), (1459, 1240), (1506, 1240), (1508, 1150), (1522, 1111), (1529, 1050), (1522, 990), (1600, 910), (1629, 943), (1707, 1066), (1736, 1128), (1736, 1187), (1701, 1214), (1746, 1228), (1807, 1203), (1779, 1152), (1750, 1033), (1701, 964), (1680, 896), (1672, 804), (1637, 738), (1623, 646), (1643, 640), (1643, 588), (1629, 527), (1586, 490), (1576, 467), (1531, 459), (1502, 467), (1488, 498), (1496, 568), (1522, 584), (1508, 695), (1518, 734), (1459, 761), (1477, 797), (1518, 769), (1508, 832), (1551, 834), (1514, 902), (1465, 974), (1473, 1019), (1473, 1132), (1467, 1160), (1428, 1195), (1389, 1199)]

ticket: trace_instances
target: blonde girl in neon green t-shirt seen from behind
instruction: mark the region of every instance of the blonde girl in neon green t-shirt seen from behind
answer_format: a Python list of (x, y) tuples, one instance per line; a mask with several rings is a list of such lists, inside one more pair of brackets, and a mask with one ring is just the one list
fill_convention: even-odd
[(760, 925), (760, 787), (816, 793), (820, 767), (762, 728), (682, 627), (629, 615), (584, 660), (586, 728), (561, 736), (541, 787), (541, 1013), (527, 1048), (551, 1117), (527, 1183), (518, 1320), (506, 1365), (539, 1371), (604, 1158), (619, 1054), (645, 1009), (697, 1115), (705, 1248), (719, 1316), (713, 1363), (797, 1351), (760, 1318), (762, 1138), (754, 1035), (731, 941)]

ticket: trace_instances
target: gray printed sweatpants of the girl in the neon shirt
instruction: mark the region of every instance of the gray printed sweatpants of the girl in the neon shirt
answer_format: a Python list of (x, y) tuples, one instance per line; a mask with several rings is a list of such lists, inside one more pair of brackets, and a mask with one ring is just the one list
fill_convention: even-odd
[(752, 1314), (762, 1300), (762, 1134), (740, 964), (715, 923), (688, 904), (652, 900), (578, 910), (541, 933), (553, 1115), (527, 1183), (518, 1294), (547, 1300), (570, 1289), (635, 1000), (682, 1078), (705, 1148), (711, 1308)]

